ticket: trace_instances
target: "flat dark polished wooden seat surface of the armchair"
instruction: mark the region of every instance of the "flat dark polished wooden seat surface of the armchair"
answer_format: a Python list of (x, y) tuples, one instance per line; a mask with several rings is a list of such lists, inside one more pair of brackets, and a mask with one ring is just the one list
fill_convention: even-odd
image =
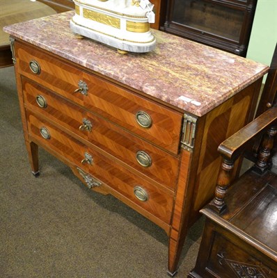
[(201, 213), (277, 261), (277, 175), (248, 170), (232, 184), (220, 215), (207, 206)]

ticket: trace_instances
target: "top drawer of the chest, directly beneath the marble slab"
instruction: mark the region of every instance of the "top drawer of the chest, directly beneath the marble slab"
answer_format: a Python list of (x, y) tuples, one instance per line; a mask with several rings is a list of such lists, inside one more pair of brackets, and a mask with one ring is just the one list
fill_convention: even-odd
[[(15, 44), (15, 53), (19, 74), (120, 124), (155, 145), (178, 154), (182, 113), (172, 111), (19, 42)], [(82, 83), (86, 83), (86, 92), (75, 92)]]

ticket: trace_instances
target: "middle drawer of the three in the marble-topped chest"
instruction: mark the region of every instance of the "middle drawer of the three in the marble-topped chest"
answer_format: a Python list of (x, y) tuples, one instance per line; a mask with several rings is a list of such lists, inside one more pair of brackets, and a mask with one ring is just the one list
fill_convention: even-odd
[[(30, 111), (45, 115), (63, 128), (116, 156), (158, 183), (175, 189), (179, 160), (101, 117), (88, 113), (37, 83), (22, 78), (24, 101)], [(84, 128), (84, 123), (90, 128)]]

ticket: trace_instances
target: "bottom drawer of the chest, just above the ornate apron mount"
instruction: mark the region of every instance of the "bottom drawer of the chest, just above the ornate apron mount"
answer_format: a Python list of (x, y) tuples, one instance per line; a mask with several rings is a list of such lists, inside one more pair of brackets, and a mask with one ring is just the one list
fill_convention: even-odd
[[(161, 190), (145, 179), (137, 177), (116, 161), (106, 158), (95, 149), (86, 148), (81, 142), (59, 131), (47, 121), (40, 120), (31, 113), (27, 113), (27, 119), (29, 135), (40, 145), (61, 154), (81, 170), (115, 189), (129, 201), (155, 215), (166, 224), (170, 223), (173, 193), (169, 190)], [(49, 138), (47, 138), (46, 131), (41, 131), (42, 128), (47, 129)], [(143, 214), (143, 210), (140, 213)]]

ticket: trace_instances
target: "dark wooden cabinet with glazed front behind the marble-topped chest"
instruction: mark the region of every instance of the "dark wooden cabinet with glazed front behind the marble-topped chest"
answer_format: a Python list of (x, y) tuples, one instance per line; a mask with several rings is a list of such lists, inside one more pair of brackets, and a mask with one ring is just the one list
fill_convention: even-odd
[(161, 30), (246, 56), (257, 0), (168, 0)]

